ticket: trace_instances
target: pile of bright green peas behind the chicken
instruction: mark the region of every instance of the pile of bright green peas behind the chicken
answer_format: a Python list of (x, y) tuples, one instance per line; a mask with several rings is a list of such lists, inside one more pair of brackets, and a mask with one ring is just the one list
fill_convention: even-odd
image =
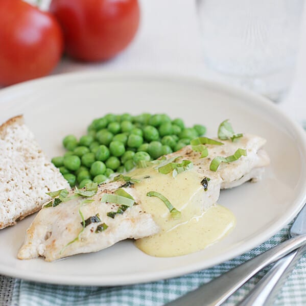
[(139, 160), (150, 161), (178, 151), (206, 128), (186, 128), (181, 119), (167, 114), (107, 114), (93, 120), (87, 134), (63, 139), (64, 156), (52, 158), (70, 186), (84, 187), (88, 182), (102, 183), (114, 173), (130, 171)]

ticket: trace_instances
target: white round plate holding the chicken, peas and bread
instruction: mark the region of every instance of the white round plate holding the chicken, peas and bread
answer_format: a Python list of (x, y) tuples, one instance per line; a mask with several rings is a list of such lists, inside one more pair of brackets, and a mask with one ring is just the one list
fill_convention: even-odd
[(188, 125), (202, 123), (216, 135), (229, 118), (238, 132), (267, 138), (271, 167), (258, 183), (222, 191), (219, 203), (236, 215), (228, 237), (190, 255), (156, 258), (123, 241), (97, 253), (47, 263), (20, 261), (16, 254), (34, 216), (0, 231), (0, 273), (66, 285), (126, 285), (179, 276), (222, 263), (262, 243), (297, 214), (305, 200), (304, 132), (272, 102), (224, 85), (191, 78), (146, 74), (70, 74), (0, 91), (0, 122), (23, 113), (42, 148), (63, 153), (61, 140), (81, 135), (108, 112), (164, 112)]

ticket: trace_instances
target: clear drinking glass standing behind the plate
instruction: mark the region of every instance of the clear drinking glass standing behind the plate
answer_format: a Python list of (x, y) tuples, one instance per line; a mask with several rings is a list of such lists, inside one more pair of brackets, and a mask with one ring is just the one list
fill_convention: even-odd
[(290, 86), (304, 0), (197, 0), (207, 67), (280, 98)]

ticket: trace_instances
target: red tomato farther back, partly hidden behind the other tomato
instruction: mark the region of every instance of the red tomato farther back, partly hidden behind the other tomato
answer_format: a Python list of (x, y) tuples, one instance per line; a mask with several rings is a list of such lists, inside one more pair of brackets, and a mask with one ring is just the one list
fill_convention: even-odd
[(137, 0), (52, 0), (66, 53), (84, 61), (107, 60), (131, 42), (139, 24)]

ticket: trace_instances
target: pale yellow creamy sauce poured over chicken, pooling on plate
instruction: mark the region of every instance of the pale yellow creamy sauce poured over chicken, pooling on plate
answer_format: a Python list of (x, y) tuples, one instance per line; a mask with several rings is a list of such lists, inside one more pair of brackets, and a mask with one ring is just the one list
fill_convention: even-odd
[[(159, 233), (135, 242), (140, 250), (158, 257), (189, 254), (215, 243), (234, 227), (236, 219), (231, 211), (211, 202), (214, 197), (210, 199), (209, 187), (204, 191), (200, 183), (203, 175), (189, 170), (173, 178), (172, 173), (161, 174), (154, 167), (156, 165), (129, 173), (132, 178), (141, 180), (134, 185), (139, 204), (160, 227)], [(150, 191), (165, 196), (181, 212), (181, 218), (173, 219), (160, 199), (147, 196)], [(206, 211), (204, 199), (210, 200), (212, 205)]]

